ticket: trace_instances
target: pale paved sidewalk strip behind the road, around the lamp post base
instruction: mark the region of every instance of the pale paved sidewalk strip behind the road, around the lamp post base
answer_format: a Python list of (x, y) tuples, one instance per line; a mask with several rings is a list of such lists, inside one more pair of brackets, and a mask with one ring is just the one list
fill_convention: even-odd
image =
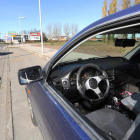
[(9, 45), (9, 48), (22, 48), (24, 50), (27, 50), (31, 53), (37, 54), (41, 57), (44, 57), (45, 59), (50, 60), (53, 55), (55, 55), (55, 53), (58, 51), (57, 49), (51, 49), (51, 48), (44, 48), (44, 53), (42, 53), (42, 48), (41, 47), (37, 47), (37, 46), (33, 46), (33, 44), (14, 44), (14, 45)]

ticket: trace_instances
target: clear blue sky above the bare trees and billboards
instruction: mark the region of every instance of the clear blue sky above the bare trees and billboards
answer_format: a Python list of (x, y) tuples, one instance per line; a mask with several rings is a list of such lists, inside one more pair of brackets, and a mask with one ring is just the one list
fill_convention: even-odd
[[(102, 18), (104, 0), (40, 0), (42, 30), (46, 32), (49, 23), (75, 23), (79, 31)], [(39, 0), (2, 0), (0, 2), (0, 38), (8, 31), (20, 32), (21, 29), (40, 30)], [(63, 28), (62, 28), (63, 29)], [(63, 34), (64, 35), (64, 34)]]

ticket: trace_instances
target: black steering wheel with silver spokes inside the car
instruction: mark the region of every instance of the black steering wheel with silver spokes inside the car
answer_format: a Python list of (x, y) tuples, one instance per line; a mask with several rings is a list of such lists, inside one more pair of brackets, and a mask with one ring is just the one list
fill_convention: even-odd
[[(86, 82), (82, 85), (81, 81), (80, 81), (80, 76), (82, 74), (82, 72), (87, 69), (87, 68), (92, 68), (92, 69), (96, 69), (99, 72), (102, 73), (102, 75), (100, 76), (94, 76), (94, 77), (90, 77), (86, 80)], [(103, 94), (101, 92), (101, 90), (99, 89), (99, 83), (105, 80), (107, 87), (106, 87), (106, 91)], [(77, 72), (77, 77), (76, 77), (76, 84), (77, 84), (77, 89), (80, 93), (80, 95), (86, 99), (87, 101), (89, 101), (90, 103), (99, 103), (101, 101), (103, 101), (105, 99), (105, 97), (109, 94), (109, 80), (108, 80), (108, 75), (107, 73), (102, 70), (99, 66), (95, 65), (95, 64), (85, 64), (83, 65)], [(96, 94), (98, 96), (98, 99), (91, 99), (88, 96), (86, 96), (86, 91), (87, 90), (91, 90), (91, 94)]]

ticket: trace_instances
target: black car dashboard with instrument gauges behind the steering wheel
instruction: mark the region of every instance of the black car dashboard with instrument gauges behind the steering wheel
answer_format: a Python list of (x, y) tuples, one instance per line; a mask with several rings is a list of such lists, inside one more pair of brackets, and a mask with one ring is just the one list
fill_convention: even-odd
[[(110, 82), (110, 93), (115, 92), (117, 87), (129, 83), (134, 77), (137, 78), (138, 63), (128, 61), (122, 57), (100, 58), (96, 60), (70, 63), (64, 66), (56, 67), (50, 74), (53, 85), (68, 99), (74, 99), (79, 96), (76, 86), (76, 77), (79, 68), (85, 64), (93, 63), (105, 70)], [(99, 76), (102, 73), (97, 69), (86, 69), (80, 75), (80, 82), (85, 81), (93, 76)], [(105, 83), (102, 82), (100, 87), (105, 89)]]

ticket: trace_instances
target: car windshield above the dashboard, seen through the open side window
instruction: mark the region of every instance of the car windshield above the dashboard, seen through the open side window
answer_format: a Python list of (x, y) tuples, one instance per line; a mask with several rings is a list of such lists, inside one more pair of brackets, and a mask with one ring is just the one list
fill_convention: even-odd
[[(125, 39), (125, 35), (100, 35), (93, 37), (84, 43), (77, 46), (73, 51), (71, 51), (65, 58), (63, 58), (59, 63), (62, 62), (72, 62), (77, 60), (85, 59), (100, 59), (105, 57), (123, 57), (136, 46), (138, 46), (139, 38), (135, 35), (135, 46), (134, 47), (115, 47), (115, 39)], [(132, 39), (133, 35), (127, 35), (128, 39)], [(132, 55), (133, 53), (131, 53)], [(126, 57), (127, 59), (129, 57)]]

